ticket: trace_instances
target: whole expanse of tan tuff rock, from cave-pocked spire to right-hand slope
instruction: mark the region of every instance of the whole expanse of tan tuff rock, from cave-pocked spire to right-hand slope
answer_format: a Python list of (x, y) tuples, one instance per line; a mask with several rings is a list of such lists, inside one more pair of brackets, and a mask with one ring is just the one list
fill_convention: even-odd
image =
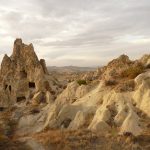
[(31, 149), (46, 150), (33, 134), (52, 129), (86, 129), (112, 136), (144, 134), (150, 123), (149, 62), (149, 55), (136, 61), (121, 55), (64, 88), (49, 75), (33, 45), (17, 39), (13, 54), (5, 55), (1, 64), (0, 132), (19, 137)]

